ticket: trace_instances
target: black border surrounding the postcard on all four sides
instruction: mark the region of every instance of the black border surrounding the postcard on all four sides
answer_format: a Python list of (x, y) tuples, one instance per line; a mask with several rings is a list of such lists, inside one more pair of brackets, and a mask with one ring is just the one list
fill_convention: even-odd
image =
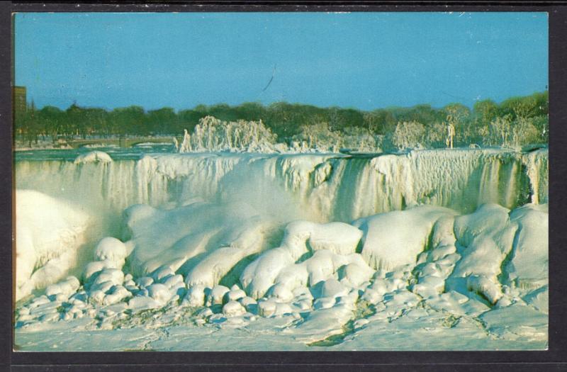
[[(550, 127), (550, 193), (549, 225), (550, 308), (549, 350), (547, 351), (208, 351), (208, 352), (14, 352), (12, 344), (12, 150), (11, 150), (11, 12), (12, 11), (547, 11), (549, 12), (549, 97)], [(357, 1), (339, 4), (333, 1), (306, 1), (283, 4), (279, 1), (203, 1), (186, 4), (180, 1), (118, 4), (0, 4), (0, 366), (14, 370), (53, 371), (80, 369), (101, 371), (105, 368), (121, 371), (154, 371), (157, 365), (168, 370), (189, 371), (206, 368), (220, 371), (262, 371), (271, 369), (309, 369), (312, 371), (358, 371), (366, 368), (393, 367), (439, 371), (440, 369), (514, 369), (534, 371), (567, 368), (565, 332), (567, 275), (567, 6), (565, 3), (539, 1), (534, 3), (503, 3), (502, 1), (395, 1), (390, 3)], [(9, 337), (4, 337), (9, 336)], [(376, 339), (376, 342), (380, 342)]]

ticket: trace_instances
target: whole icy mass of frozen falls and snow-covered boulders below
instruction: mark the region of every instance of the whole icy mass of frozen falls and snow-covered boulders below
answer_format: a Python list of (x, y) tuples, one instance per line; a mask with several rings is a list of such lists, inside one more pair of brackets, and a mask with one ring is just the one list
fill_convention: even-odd
[(16, 339), (67, 321), (157, 332), (142, 349), (541, 348), (546, 174), (541, 150), (17, 162)]

